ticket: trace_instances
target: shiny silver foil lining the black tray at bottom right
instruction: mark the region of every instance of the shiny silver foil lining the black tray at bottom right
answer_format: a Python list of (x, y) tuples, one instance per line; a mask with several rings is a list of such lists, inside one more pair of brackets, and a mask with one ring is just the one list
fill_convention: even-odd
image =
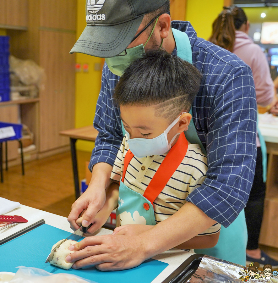
[[(246, 275), (244, 266), (233, 264), (226, 260), (204, 256), (199, 264), (198, 269), (187, 281), (190, 283), (242, 283), (239, 279)], [(248, 279), (245, 282), (278, 282), (278, 277), (270, 277), (270, 279), (258, 278)]]

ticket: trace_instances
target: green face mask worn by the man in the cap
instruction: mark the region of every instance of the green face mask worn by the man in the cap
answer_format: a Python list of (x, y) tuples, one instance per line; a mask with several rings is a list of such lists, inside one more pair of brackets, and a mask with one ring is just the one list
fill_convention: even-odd
[[(156, 25), (157, 21), (158, 21), (158, 18), (156, 19), (155, 25)], [(132, 63), (134, 60), (136, 60), (138, 58), (141, 58), (145, 54), (144, 47), (146, 46), (146, 44), (150, 40), (150, 37), (153, 34), (154, 30), (155, 30), (155, 26), (153, 27), (151, 34), (150, 34), (148, 40), (146, 41), (146, 43), (144, 45), (140, 44), (138, 46), (125, 49), (122, 53), (120, 53), (117, 56), (114, 56), (114, 57), (111, 57), (111, 58), (105, 58), (105, 62), (107, 64), (109, 70), (113, 74), (121, 77), (124, 73), (124, 70), (130, 65), (130, 63)], [(162, 39), (162, 42), (163, 42), (163, 39)], [(162, 46), (162, 42), (161, 42), (159, 49)]]

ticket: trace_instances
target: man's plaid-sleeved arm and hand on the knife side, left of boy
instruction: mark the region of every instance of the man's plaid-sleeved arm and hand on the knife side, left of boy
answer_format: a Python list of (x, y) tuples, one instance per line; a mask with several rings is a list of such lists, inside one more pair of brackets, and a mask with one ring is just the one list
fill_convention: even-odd
[[(112, 92), (117, 83), (117, 78), (104, 64), (101, 91), (94, 119), (94, 127), (99, 131), (99, 134), (89, 165), (92, 170), (92, 178), (87, 190), (72, 205), (68, 221), (73, 230), (78, 229), (76, 220), (83, 210), (87, 209), (83, 215), (82, 225), (87, 227), (93, 222), (95, 215), (105, 203), (105, 189), (110, 184), (112, 166), (123, 139), (119, 110), (113, 105), (112, 101)], [(94, 232), (93, 227), (88, 232)]]

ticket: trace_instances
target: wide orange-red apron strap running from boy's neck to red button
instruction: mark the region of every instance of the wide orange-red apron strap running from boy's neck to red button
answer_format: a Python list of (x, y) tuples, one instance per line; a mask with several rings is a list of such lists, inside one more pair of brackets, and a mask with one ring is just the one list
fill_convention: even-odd
[(152, 204), (177, 170), (178, 166), (182, 163), (187, 148), (187, 139), (184, 133), (181, 133), (176, 144), (170, 149), (169, 153), (167, 153), (144, 192), (143, 197), (148, 199)]

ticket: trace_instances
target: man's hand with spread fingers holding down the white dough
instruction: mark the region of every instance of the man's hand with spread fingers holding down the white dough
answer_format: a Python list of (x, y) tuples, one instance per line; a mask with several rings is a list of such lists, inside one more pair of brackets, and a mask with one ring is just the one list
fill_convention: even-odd
[(92, 236), (72, 245), (70, 250), (75, 252), (66, 261), (75, 262), (73, 269), (90, 265), (100, 270), (130, 269), (146, 259), (140, 236)]

